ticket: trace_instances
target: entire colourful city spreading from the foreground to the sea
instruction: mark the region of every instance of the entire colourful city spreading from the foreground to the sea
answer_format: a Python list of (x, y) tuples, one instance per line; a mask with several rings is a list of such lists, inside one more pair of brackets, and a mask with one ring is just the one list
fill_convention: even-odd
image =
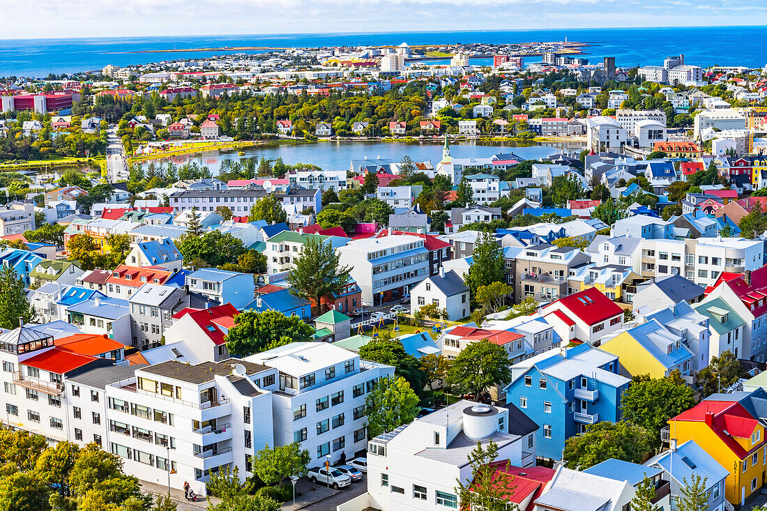
[(7, 509), (767, 509), (767, 69), (211, 49), (0, 77)]

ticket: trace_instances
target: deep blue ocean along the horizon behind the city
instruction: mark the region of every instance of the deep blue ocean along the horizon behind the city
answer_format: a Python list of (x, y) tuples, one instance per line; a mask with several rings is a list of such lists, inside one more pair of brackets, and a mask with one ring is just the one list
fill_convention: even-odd
[[(663, 64), (667, 55), (685, 54), (688, 64), (767, 64), (762, 46), (748, 41), (767, 39), (767, 26), (594, 28), (509, 31), (427, 31), (366, 34), (219, 35), (193, 37), (4, 39), (0, 40), (0, 77), (45, 77), (49, 73), (94, 71), (107, 64), (126, 66), (176, 58), (209, 57), (223, 52), (180, 51), (136, 53), (176, 48), (291, 48), (331, 45), (447, 45), (452, 43), (520, 43), (578, 41), (588, 43), (584, 57), (599, 61), (615, 57), (617, 66)], [(258, 53), (252, 51), (249, 53)], [(535, 61), (535, 58), (529, 61)], [(538, 59), (539, 60), (539, 59)], [(478, 64), (485, 64), (481, 62)]]

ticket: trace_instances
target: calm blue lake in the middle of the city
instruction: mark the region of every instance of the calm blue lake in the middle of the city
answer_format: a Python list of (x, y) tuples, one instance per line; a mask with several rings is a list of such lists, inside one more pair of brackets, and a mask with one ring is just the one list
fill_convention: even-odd
[[(244, 150), (245, 155), (239, 156), (236, 151), (212, 151), (210, 153), (189, 154), (173, 158), (173, 163), (196, 162), (206, 165), (216, 174), (224, 160), (240, 160), (242, 158), (266, 158), (282, 161), (288, 164), (313, 163), (323, 169), (348, 169), (351, 160), (368, 160), (381, 158), (384, 160), (400, 161), (409, 156), (413, 161), (431, 161), (433, 165), (442, 160), (442, 141), (405, 143), (405, 142), (316, 142), (298, 144), (275, 144), (265, 147), (250, 147)], [(549, 157), (562, 150), (579, 151), (584, 147), (581, 142), (552, 142), (545, 145), (538, 143), (518, 142), (476, 142), (463, 141), (450, 143), (450, 156), (454, 158), (486, 158), (495, 153), (515, 153), (525, 160), (538, 160)], [(167, 160), (162, 160), (167, 161)], [(144, 163), (144, 166), (148, 163)]]

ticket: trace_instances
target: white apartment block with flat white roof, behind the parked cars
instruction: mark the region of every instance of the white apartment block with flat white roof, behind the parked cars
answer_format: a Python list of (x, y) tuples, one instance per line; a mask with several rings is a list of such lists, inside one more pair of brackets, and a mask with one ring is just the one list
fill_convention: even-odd
[(347, 459), (367, 447), (365, 395), (394, 368), (327, 343), (292, 342), (246, 361), (278, 373), (272, 395), (275, 445), (301, 443), (311, 463)]

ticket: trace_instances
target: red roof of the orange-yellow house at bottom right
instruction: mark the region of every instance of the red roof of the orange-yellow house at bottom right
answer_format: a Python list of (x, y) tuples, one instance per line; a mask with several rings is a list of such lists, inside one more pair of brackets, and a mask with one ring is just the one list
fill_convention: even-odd
[[(706, 417), (706, 416), (709, 417)], [(767, 441), (757, 443), (750, 450), (745, 450), (735, 438), (749, 438), (759, 425), (759, 420), (737, 401), (703, 401), (686, 410), (671, 420), (686, 422), (706, 422), (713, 432), (741, 460)]]

